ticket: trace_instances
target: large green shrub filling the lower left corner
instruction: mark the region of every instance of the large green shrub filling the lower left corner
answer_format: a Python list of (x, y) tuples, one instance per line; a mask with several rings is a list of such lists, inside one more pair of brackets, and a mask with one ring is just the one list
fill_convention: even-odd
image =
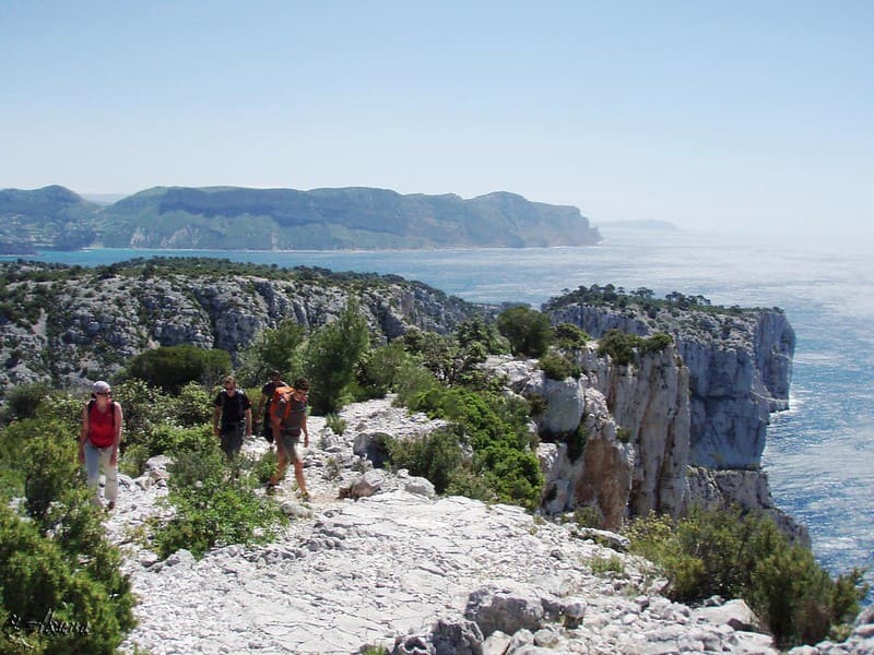
[[(82, 404), (59, 398), (0, 432), (0, 622), (21, 652), (113, 653), (134, 599), (83, 485), (71, 416)], [(40, 632), (47, 617), (64, 630)]]

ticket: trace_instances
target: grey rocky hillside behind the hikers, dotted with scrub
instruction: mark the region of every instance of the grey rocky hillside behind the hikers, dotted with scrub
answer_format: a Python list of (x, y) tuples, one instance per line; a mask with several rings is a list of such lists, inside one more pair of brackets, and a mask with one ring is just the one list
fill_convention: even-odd
[(387, 340), (409, 326), (444, 333), (476, 311), (420, 283), (380, 276), (341, 279), (326, 272), (285, 278), (91, 272), (9, 287), (7, 293), (29, 315), (0, 318), (0, 393), (40, 380), (84, 384), (111, 376), (128, 358), (158, 345), (193, 344), (234, 356), (283, 319), (307, 327), (324, 324), (351, 297)]

